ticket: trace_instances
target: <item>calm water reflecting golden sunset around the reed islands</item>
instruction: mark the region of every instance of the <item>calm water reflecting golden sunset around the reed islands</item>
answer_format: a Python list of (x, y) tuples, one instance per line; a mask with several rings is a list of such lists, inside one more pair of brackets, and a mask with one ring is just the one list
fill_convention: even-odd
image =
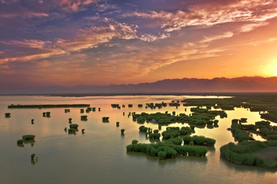
[[(170, 103), (195, 96), (96, 96), (96, 97), (50, 97), (50, 96), (0, 96), (0, 181), (1, 183), (275, 183), (276, 170), (255, 166), (241, 166), (220, 157), (219, 148), (234, 138), (226, 129), (231, 119), (247, 118), (248, 124), (260, 121), (258, 112), (236, 108), (226, 111), (228, 118), (219, 119), (217, 128), (195, 128), (193, 135), (205, 135), (216, 139), (215, 147), (208, 147), (206, 157), (179, 155), (175, 159), (159, 160), (146, 153), (127, 152), (126, 145), (133, 139), (150, 143), (145, 133), (139, 132), (138, 124), (128, 118), (129, 112), (172, 111), (190, 114), (190, 107), (144, 108), (146, 103)], [(198, 97), (199, 98), (199, 97)], [(80, 113), (80, 108), (8, 109), (10, 104), (90, 104), (95, 112)], [(125, 104), (126, 108), (112, 108), (110, 104)], [(133, 108), (128, 108), (133, 104)], [(143, 104), (143, 108), (138, 108)], [(101, 111), (98, 112), (98, 108)], [(84, 108), (86, 109), (86, 108)], [(51, 112), (51, 117), (42, 117), (42, 112)], [(10, 112), (11, 117), (5, 118)], [(123, 116), (125, 112), (125, 116)], [(80, 116), (87, 115), (87, 121)], [(109, 123), (102, 117), (109, 116)], [(68, 134), (68, 118), (79, 125), (79, 131)], [(34, 119), (34, 124), (31, 124)], [(116, 122), (119, 121), (119, 127)], [(144, 123), (153, 130), (157, 124)], [(271, 123), (271, 125), (276, 125)], [(175, 123), (170, 126), (188, 126)], [(85, 129), (85, 134), (81, 129)], [(120, 130), (125, 129), (124, 135)], [(166, 129), (162, 127), (162, 131)], [(34, 145), (16, 141), (22, 135), (36, 135)], [(257, 139), (262, 140), (259, 137)], [(38, 160), (31, 162), (35, 153)]]

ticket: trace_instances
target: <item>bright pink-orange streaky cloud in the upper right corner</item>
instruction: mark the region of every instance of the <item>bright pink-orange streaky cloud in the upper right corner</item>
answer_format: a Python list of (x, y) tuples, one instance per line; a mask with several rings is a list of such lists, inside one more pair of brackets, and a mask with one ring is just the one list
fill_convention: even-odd
[[(251, 5), (251, 6), (250, 6)], [(191, 5), (188, 11), (150, 11), (126, 13), (123, 17), (156, 19), (167, 32), (189, 26), (215, 26), (230, 22), (261, 22), (277, 17), (277, 3), (267, 0), (234, 1), (229, 4)], [(256, 23), (255, 25), (263, 25)]]

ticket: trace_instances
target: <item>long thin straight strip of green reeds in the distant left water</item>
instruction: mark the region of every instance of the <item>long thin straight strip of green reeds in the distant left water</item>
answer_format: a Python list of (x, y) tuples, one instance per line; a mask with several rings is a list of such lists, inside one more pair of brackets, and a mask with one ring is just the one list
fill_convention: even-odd
[(8, 108), (63, 108), (63, 107), (89, 107), (90, 104), (41, 104), (41, 105), (21, 105), (11, 104)]

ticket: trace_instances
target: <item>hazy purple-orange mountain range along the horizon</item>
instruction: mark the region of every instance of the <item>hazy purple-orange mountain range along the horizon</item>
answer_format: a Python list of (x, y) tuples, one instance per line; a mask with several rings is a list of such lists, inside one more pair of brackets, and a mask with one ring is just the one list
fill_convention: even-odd
[(16, 94), (114, 94), (187, 92), (277, 92), (277, 77), (237, 77), (213, 79), (165, 79), (153, 83), (122, 85), (46, 86), (26, 89), (0, 89), (1, 95)]

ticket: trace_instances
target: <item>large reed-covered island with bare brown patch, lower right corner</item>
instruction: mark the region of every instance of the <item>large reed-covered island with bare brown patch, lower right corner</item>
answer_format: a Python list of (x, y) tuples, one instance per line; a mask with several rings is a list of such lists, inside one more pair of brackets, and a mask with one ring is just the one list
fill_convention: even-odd
[[(236, 164), (277, 168), (277, 126), (271, 126), (269, 121), (243, 125), (239, 119), (233, 119), (231, 132), (238, 143), (220, 147), (221, 156)], [(267, 141), (255, 141), (252, 134), (261, 135)]]

